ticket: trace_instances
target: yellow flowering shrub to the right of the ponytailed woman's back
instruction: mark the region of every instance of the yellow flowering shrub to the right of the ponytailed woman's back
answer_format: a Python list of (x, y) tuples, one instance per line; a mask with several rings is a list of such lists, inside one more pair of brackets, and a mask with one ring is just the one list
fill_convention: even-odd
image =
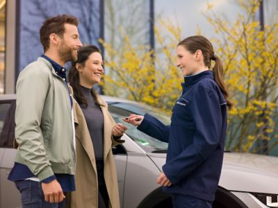
[[(263, 30), (255, 18), (259, 0), (240, 0), (245, 16), (232, 25), (213, 12), (204, 13), (220, 33), (215, 41), (224, 65), (224, 80), (235, 107), (229, 112), (226, 148), (269, 153), (277, 146), (278, 24)], [(278, 153), (275, 153), (278, 155)]]

